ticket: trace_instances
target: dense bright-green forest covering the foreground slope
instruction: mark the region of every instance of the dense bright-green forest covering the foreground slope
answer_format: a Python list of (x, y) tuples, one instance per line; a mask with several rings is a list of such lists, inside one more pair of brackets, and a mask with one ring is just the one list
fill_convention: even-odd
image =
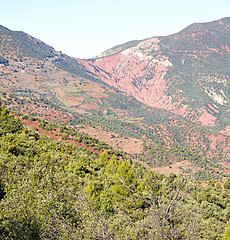
[(104, 150), (41, 135), (1, 102), (0, 238), (230, 239), (230, 178), (204, 187)]

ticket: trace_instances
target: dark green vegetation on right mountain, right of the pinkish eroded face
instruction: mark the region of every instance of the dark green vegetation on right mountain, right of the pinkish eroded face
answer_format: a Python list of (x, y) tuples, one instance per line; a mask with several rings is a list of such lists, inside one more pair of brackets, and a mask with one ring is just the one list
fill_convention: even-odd
[[(220, 47), (230, 44), (228, 32), (224, 30), (229, 27), (229, 18), (221, 21), (226, 25), (219, 25), (218, 21), (192, 24), (175, 35), (161, 38), (162, 45), (166, 46), (162, 50), (174, 65), (172, 71), (167, 73), (169, 79), (174, 79), (168, 94), (174, 96), (175, 102), (185, 97), (185, 104), (193, 108), (194, 112), (205, 107), (207, 112), (217, 118), (219, 126), (216, 129), (223, 129), (230, 119), (229, 101), (221, 104), (205, 93), (205, 89), (211, 89), (222, 96), (222, 89), (226, 99), (229, 96), (230, 58), (228, 52), (222, 53)], [(178, 89), (182, 91), (178, 92)], [(218, 111), (213, 111), (210, 106)]]

